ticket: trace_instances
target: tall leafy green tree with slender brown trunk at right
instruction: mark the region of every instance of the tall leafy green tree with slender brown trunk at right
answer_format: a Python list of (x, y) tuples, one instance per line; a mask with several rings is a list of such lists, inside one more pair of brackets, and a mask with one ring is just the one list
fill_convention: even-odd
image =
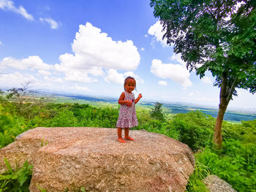
[(222, 120), (236, 88), (256, 92), (256, 1), (151, 0), (168, 45), (181, 53), (187, 69), (207, 71), (219, 86), (214, 142), (222, 145)]

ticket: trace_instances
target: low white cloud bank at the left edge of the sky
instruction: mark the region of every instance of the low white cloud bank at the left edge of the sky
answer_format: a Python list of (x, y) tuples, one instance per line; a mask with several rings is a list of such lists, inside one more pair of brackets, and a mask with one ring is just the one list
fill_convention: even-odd
[(45, 64), (39, 56), (29, 56), (29, 58), (23, 59), (15, 59), (11, 57), (3, 58), (0, 61), (1, 67), (10, 66), (15, 69), (25, 70), (25, 69), (42, 69), (42, 70), (49, 70), (52, 66)]

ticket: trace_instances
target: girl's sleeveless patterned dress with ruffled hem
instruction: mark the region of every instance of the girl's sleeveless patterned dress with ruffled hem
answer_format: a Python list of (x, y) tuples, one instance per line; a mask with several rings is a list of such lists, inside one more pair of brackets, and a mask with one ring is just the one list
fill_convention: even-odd
[(138, 126), (138, 119), (135, 110), (135, 94), (124, 91), (124, 100), (132, 101), (132, 106), (128, 107), (126, 104), (120, 105), (119, 117), (116, 122), (118, 128), (132, 128)]

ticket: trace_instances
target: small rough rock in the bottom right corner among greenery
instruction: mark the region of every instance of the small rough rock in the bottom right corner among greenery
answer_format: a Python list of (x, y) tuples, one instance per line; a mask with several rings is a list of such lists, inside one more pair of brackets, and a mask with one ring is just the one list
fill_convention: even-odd
[(230, 184), (219, 179), (217, 175), (209, 175), (203, 180), (203, 183), (210, 192), (236, 192)]

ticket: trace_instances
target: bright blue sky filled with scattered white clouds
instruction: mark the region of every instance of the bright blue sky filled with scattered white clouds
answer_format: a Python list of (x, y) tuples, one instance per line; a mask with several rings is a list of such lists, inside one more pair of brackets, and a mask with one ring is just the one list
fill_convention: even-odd
[[(210, 72), (200, 79), (173, 47), (148, 0), (0, 0), (0, 88), (118, 98), (135, 77), (145, 101), (218, 107)], [(256, 111), (238, 89), (227, 110)], [(143, 101), (143, 99), (141, 101)]]

